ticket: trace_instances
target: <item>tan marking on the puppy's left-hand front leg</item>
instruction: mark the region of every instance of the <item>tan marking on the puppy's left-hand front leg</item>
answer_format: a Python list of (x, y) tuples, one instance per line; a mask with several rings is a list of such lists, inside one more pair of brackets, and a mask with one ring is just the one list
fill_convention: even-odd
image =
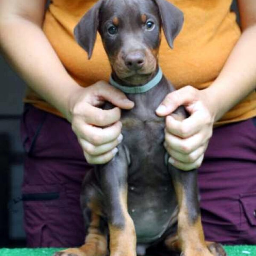
[(136, 233), (133, 220), (127, 209), (127, 188), (120, 193), (122, 213), (125, 227), (118, 228), (109, 224), (111, 256), (136, 256)]

